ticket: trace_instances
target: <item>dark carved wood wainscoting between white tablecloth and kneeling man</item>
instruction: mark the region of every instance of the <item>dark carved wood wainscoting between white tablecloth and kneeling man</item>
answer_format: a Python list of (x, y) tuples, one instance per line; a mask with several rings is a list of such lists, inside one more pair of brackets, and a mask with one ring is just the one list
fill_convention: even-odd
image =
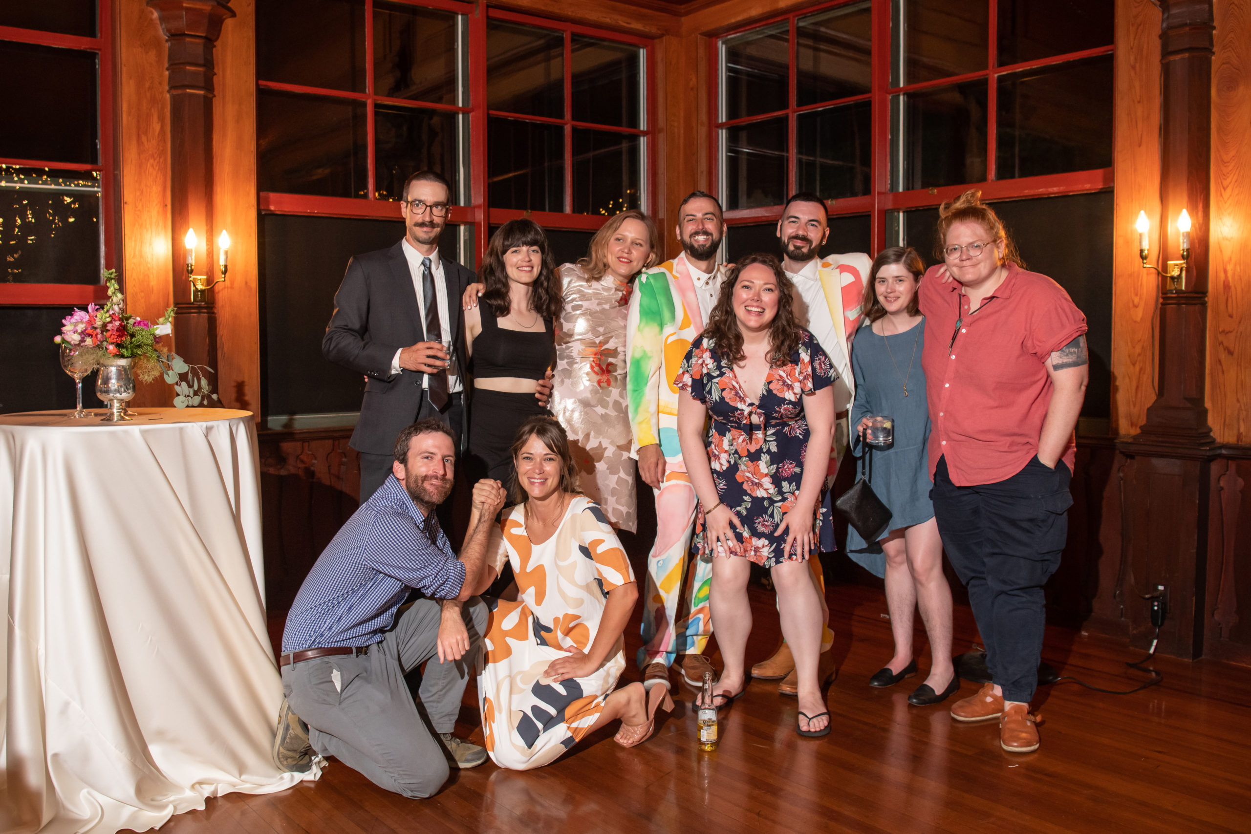
[(318, 555), (357, 511), (360, 456), (352, 428), (260, 430), (265, 599), (286, 610)]

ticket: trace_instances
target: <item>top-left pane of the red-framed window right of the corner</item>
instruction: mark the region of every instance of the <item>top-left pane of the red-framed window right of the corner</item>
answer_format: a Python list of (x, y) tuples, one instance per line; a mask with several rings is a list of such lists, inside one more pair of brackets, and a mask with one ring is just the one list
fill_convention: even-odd
[(791, 68), (789, 24), (782, 21), (721, 41), (723, 121), (784, 110)]

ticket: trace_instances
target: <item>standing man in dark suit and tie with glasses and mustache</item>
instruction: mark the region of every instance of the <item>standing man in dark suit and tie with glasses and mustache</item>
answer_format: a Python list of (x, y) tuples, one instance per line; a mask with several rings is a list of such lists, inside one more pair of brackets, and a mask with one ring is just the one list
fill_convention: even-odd
[(390, 475), (405, 426), (435, 418), (452, 429), (457, 451), (469, 434), (460, 296), (475, 276), (439, 255), (452, 189), (418, 171), (403, 194), (404, 239), (348, 263), (322, 340), (327, 359), (367, 376), (350, 441), (360, 453), (362, 504)]

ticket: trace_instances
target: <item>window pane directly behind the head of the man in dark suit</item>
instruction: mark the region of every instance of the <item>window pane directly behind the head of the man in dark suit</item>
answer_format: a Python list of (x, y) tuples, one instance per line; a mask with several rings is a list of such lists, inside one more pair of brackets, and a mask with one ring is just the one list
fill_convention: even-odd
[(452, 184), (452, 203), (458, 188), (455, 113), (374, 105), (374, 191), (379, 199), (399, 200), (409, 174), (429, 169), (443, 174)]

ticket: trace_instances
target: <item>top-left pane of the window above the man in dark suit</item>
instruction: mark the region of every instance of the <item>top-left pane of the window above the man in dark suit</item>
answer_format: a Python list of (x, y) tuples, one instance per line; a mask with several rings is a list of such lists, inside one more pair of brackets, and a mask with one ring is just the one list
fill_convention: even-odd
[(258, 3), (256, 79), (364, 93), (364, 0)]

